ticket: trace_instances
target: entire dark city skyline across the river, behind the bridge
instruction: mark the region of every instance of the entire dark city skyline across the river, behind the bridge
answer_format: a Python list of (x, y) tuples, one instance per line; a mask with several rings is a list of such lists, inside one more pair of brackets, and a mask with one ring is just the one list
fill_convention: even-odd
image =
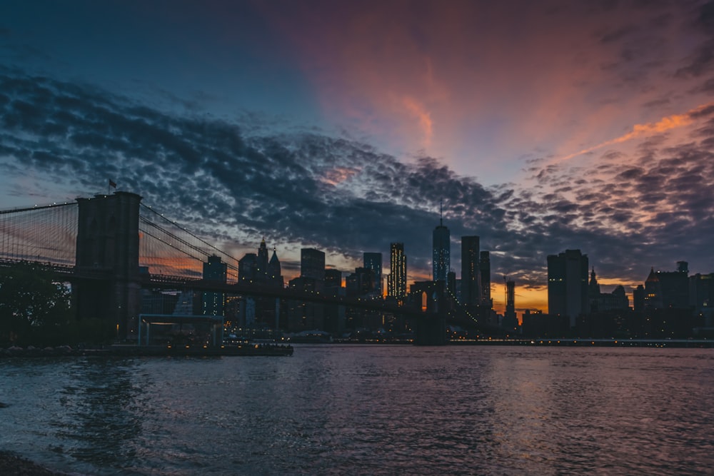
[[(588, 255), (565, 250), (548, 255), (548, 310), (526, 310), (518, 320), (516, 283), (503, 276), (505, 310), (498, 315), (491, 297), (490, 253), (481, 250), (479, 236), (461, 237), (461, 275), (451, 268), (451, 233), (440, 218), (432, 233), (432, 279), (407, 286), (407, 255), (403, 243), (389, 247), (388, 273), (383, 254), (363, 253), (363, 263), (352, 273), (326, 266), (325, 253), (303, 248), (300, 275), (284, 283), (276, 249), (268, 253), (265, 239), (257, 253), (238, 260), (238, 282), (268, 288), (287, 288), (331, 297), (380, 300), (393, 306), (411, 305), (425, 312), (465, 316), (512, 335), (533, 337), (578, 336), (607, 338), (675, 338), (713, 333), (714, 273), (688, 274), (680, 261), (675, 271), (650, 270), (643, 285), (632, 290), (632, 305), (622, 285), (603, 293)], [(209, 256), (203, 280), (226, 283), (227, 265)], [(385, 285), (386, 281), (386, 285)], [(223, 315), (235, 332), (253, 337), (271, 333), (316, 333), (330, 336), (384, 338), (408, 335), (410, 324), (398, 313), (356, 309), (337, 304), (310, 303), (289, 298), (226, 297), (203, 292), (157, 296), (146, 291), (144, 312)], [(450, 332), (462, 332), (451, 325)]]

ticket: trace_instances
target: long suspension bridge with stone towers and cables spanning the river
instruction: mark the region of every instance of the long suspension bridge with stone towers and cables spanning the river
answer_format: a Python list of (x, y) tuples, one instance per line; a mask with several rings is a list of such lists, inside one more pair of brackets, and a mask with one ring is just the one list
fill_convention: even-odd
[[(147, 289), (226, 293), (393, 313), (415, 320), (421, 340), (434, 343), (439, 343), (447, 308), (452, 320), (455, 315), (454, 306), (446, 305), (446, 295), (428, 296), (424, 310), (383, 300), (241, 282), (236, 258), (141, 203), (141, 196), (124, 191), (1, 210), (0, 240), (0, 265), (29, 261), (54, 270), (59, 279), (71, 283), (79, 319), (102, 316), (116, 324), (117, 335), (130, 339), (139, 328), (141, 290)], [(225, 263), (225, 280), (203, 279), (205, 263), (215, 256)], [(437, 305), (438, 300), (442, 302)], [(460, 320), (471, 328), (477, 325), (471, 316)]]

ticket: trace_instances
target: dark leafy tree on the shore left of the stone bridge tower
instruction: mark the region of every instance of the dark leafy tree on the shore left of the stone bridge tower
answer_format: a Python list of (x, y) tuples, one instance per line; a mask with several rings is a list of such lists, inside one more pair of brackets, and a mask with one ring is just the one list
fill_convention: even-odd
[(0, 268), (0, 343), (66, 343), (70, 290), (49, 268), (22, 262)]

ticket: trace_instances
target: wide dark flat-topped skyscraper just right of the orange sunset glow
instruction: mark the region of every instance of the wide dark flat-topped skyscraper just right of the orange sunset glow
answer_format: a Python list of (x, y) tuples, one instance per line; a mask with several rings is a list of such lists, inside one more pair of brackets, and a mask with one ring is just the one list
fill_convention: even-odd
[(588, 312), (588, 255), (580, 250), (548, 255), (548, 314), (567, 315), (575, 327)]

